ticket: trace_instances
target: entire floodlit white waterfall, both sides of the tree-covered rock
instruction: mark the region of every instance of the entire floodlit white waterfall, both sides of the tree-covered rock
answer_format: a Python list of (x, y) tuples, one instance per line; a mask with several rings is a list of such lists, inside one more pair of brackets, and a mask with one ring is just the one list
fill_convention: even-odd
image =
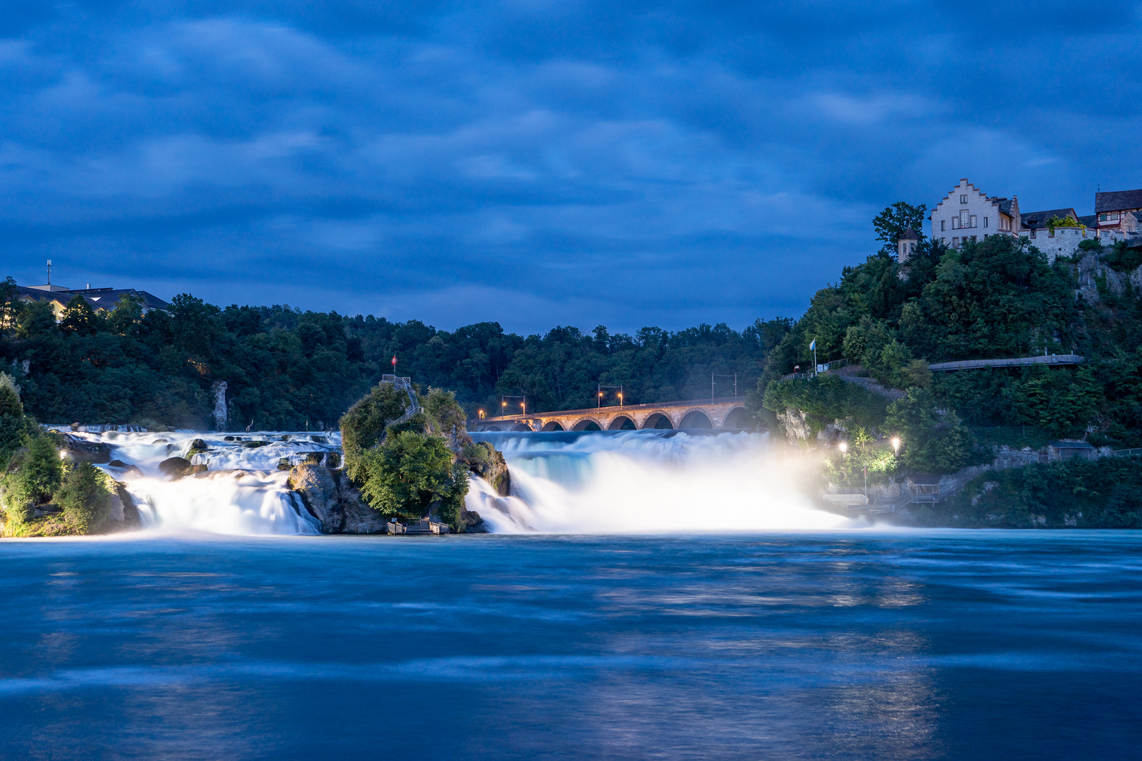
[[(319, 524), (279, 469), (340, 452), (340, 435), (271, 431), (72, 434), (111, 447), (100, 465), (126, 484), (144, 526), (219, 534), (316, 534)], [(764, 434), (602, 431), (475, 434), (504, 452), (512, 496), (473, 477), (467, 507), (494, 533), (692, 533), (813, 529), (854, 521), (813, 508), (803, 476)], [(227, 438), (232, 440), (226, 440)], [(206, 451), (191, 454), (195, 439)], [(170, 480), (172, 456), (206, 465)]]

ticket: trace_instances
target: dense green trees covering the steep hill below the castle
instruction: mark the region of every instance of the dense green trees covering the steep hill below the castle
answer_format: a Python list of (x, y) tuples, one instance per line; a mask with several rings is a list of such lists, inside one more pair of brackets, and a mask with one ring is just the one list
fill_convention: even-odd
[[(947, 472), (990, 459), (994, 444), (1042, 446), (1085, 437), (1097, 446), (1142, 446), (1142, 250), (1091, 238), (1073, 257), (1047, 258), (1023, 237), (992, 235), (948, 249), (922, 236), (906, 265), (891, 243), (920, 228), (923, 207), (904, 203), (876, 220), (885, 249), (845, 267), (812, 298), (771, 353), (751, 408), (770, 427), (804, 413), (811, 435), (850, 420), (908, 431), (903, 464)], [(797, 365), (846, 359), (886, 387), (890, 405), (855, 386), (780, 380)], [(930, 363), (1079, 354), (1081, 365), (932, 373)], [(973, 454), (974, 451), (974, 454)]]

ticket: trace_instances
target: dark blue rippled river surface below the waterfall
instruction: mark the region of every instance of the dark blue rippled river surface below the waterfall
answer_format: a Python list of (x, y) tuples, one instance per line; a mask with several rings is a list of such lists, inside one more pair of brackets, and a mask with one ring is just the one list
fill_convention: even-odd
[(0, 543), (3, 759), (1142, 758), (1142, 533)]

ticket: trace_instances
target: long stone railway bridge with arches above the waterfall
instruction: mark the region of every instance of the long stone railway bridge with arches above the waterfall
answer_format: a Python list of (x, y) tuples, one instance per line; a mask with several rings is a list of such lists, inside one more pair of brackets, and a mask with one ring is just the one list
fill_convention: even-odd
[(740, 396), (621, 407), (588, 407), (469, 420), (474, 431), (642, 430), (645, 428), (745, 428)]

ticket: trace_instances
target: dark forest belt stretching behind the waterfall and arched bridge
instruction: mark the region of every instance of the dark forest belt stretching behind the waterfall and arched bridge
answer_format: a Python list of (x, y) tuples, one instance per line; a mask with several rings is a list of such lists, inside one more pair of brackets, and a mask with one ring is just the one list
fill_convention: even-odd
[[(791, 325), (645, 327), (635, 335), (555, 327), (523, 337), (497, 323), (449, 332), (283, 306), (218, 308), (188, 294), (175, 297), (169, 311), (146, 314), (128, 299), (94, 314), (77, 297), (57, 323), (48, 303), (22, 303), (11, 285), (0, 299), (0, 362), (27, 412), (42, 422), (155, 429), (209, 427), (218, 380), (228, 386), (231, 428), (329, 428), (392, 372), (393, 356), (401, 375), (425, 390), (455, 391), (469, 415), (500, 408), (501, 395), (526, 396), (537, 412), (593, 406), (598, 384), (622, 386), (629, 404), (700, 398), (710, 394), (711, 373), (737, 373), (743, 391)], [(718, 395), (733, 392), (732, 379), (717, 383)]]

